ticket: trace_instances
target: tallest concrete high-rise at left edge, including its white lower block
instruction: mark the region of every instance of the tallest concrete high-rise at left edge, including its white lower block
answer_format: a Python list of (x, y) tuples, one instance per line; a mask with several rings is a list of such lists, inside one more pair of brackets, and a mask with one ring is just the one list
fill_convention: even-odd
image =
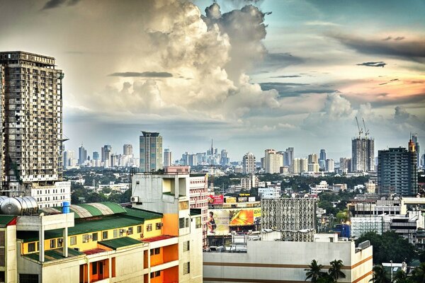
[(0, 52), (1, 194), (31, 195), (40, 207), (70, 200), (61, 182), (63, 78), (53, 57)]

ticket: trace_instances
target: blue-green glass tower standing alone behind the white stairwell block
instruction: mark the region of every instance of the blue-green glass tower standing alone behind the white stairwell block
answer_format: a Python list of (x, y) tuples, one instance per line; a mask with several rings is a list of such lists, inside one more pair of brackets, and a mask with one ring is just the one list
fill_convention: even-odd
[(162, 166), (162, 137), (157, 132), (140, 136), (140, 172), (157, 171)]

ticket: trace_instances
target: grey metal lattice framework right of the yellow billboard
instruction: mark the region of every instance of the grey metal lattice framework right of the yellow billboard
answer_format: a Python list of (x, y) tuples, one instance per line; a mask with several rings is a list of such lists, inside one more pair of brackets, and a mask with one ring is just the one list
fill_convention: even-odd
[(312, 242), (316, 232), (316, 200), (261, 200), (261, 228), (280, 231), (281, 241)]

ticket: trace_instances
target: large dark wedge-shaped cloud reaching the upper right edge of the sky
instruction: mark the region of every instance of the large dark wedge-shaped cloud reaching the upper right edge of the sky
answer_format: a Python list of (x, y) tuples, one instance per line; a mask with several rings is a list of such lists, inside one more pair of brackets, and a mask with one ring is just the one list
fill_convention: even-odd
[[(412, 61), (425, 61), (425, 38), (417, 40), (368, 40), (361, 37), (334, 34), (330, 35), (346, 47), (353, 48), (364, 54), (380, 54), (402, 57)], [(397, 37), (401, 38), (401, 37)]]

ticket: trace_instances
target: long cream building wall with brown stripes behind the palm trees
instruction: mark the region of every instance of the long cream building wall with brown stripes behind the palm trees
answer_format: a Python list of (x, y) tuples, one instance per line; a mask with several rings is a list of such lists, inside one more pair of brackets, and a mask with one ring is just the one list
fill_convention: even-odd
[(372, 247), (355, 253), (353, 242), (249, 241), (248, 253), (203, 253), (204, 282), (305, 282), (305, 268), (317, 260), (324, 272), (342, 260), (346, 278), (368, 283), (372, 278)]

